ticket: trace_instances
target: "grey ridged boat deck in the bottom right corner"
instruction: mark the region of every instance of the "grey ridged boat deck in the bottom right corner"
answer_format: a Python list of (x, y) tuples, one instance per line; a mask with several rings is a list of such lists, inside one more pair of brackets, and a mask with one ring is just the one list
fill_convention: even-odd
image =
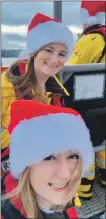
[(82, 201), (81, 208), (77, 208), (79, 218), (99, 219), (106, 218), (106, 188), (101, 187), (99, 177), (96, 177), (91, 200)]

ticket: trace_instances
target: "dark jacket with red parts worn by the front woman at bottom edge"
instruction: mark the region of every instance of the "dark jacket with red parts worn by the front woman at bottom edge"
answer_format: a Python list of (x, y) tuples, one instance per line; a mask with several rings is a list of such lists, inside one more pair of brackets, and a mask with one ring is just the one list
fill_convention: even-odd
[[(2, 177), (1, 180), (1, 193), (2, 195), (11, 192), (17, 186), (17, 181), (9, 173)], [(7, 199), (1, 203), (1, 219), (26, 219), (26, 213), (22, 210), (22, 203), (19, 199)], [(41, 215), (44, 219), (69, 219), (77, 218), (76, 210), (74, 206), (67, 208), (61, 213), (46, 214), (41, 211)]]

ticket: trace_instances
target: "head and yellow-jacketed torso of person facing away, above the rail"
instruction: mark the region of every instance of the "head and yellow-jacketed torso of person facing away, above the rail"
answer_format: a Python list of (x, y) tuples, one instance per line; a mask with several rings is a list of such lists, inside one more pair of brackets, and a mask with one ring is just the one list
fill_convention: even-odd
[(106, 1), (85, 1), (80, 10), (83, 32), (69, 64), (103, 63), (106, 60)]

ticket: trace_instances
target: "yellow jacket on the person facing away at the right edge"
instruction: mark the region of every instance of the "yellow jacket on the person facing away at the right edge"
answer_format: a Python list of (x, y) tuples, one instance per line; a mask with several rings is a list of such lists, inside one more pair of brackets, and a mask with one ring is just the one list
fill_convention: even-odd
[[(102, 55), (105, 42), (103, 36), (92, 33), (82, 36), (74, 48), (68, 64), (90, 64), (97, 63)], [(106, 56), (100, 62), (105, 62)]]

